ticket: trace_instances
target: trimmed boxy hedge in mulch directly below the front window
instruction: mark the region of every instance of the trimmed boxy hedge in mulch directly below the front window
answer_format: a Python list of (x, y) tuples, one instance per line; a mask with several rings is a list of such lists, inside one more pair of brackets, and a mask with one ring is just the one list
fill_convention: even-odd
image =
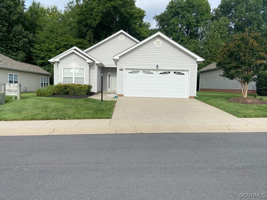
[(87, 95), (91, 92), (91, 85), (81, 84), (58, 84), (58, 90), (60, 95)]

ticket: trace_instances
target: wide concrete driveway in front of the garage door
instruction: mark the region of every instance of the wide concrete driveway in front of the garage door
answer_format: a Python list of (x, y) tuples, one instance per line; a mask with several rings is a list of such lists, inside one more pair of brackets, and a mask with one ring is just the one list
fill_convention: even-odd
[(251, 125), (196, 99), (118, 97), (110, 126)]

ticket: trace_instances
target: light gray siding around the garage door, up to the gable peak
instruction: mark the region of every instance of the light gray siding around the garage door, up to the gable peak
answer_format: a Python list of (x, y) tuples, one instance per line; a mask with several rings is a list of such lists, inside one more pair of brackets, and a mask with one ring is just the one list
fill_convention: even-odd
[[(159, 48), (154, 46), (154, 42), (157, 39), (162, 42), (162, 46)], [(135, 49), (121, 55), (119, 57), (118, 68), (156, 69), (156, 65), (159, 66), (159, 70), (190, 69), (189, 96), (195, 96), (197, 75), (196, 58), (185, 53), (160, 36), (154, 37)], [(124, 71), (118, 71), (118, 94), (123, 94), (124, 92)]]

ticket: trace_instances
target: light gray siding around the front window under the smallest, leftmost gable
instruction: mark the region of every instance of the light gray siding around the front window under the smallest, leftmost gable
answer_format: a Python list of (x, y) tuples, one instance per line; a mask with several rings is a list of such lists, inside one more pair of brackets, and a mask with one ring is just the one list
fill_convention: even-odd
[(79, 68), (85, 68), (85, 84), (88, 84), (88, 63), (86, 62), (86, 59), (80, 57), (76, 53), (70, 53), (66, 55), (65, 57), (60, 59), (60, 81), (63, 82), (63, 67), (69, 67), (69, 64), (75, 62), (78, 64)]

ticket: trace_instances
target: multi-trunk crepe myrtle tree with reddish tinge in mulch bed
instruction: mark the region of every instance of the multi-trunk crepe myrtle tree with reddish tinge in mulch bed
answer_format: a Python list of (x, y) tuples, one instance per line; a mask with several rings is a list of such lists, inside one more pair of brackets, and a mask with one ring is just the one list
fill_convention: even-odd
[(233, 40), (221, 48), (216, 65), (223, 68), (220, 76), (237, 80), (242, 97), (247, 97), (248, 84), (267, 69), (267, 41), (259, 33), (246, 31), (234, 35)]

